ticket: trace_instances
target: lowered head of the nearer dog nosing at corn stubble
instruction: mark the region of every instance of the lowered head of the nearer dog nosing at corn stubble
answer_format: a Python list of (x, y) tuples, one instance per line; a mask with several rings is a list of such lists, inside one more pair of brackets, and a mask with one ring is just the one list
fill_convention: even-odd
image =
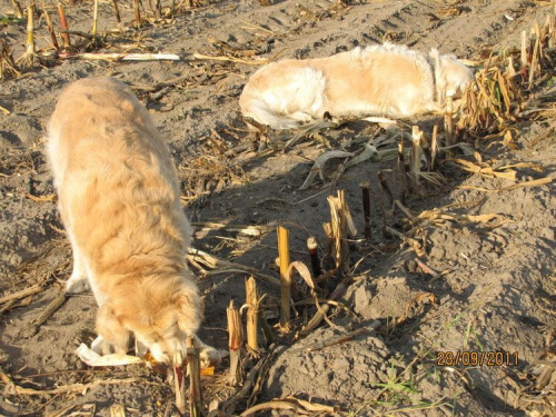
[(120, 350), (125, 351), (132, 332), (138, 356), (150, 350), (157, 363), (168, 365), (168, 377), (175, 383), (176, 406), (183, 414), (183, 358), (188, 339), (195, 339), (202, 320), (199, 289), (183, 275), (146, 277), (120, 282), (118, 287), (99, 311), (99, 334), (103, 334), (107, 341), (121, 345)]

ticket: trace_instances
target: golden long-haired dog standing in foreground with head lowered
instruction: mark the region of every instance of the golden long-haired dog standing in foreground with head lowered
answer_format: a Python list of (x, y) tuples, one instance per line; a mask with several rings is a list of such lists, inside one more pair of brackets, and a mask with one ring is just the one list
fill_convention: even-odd
[(185, 255), (190, 226), (167, 145), (133, 92), (112, 78), (63, 90), (48, 157), (73, 250), (67, 291), (92, 288), (93, 348), (123, 354), (129, 338), (169, 361), (202, 319)]

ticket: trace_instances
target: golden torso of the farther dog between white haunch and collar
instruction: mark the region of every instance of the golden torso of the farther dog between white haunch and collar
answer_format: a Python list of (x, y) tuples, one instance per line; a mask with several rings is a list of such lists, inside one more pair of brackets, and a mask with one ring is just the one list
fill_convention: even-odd
[(429, 111), (434, 76), (427, 59), (385, 43), (315, 60), (327, 78), (324, 109), (332, 116), (409, 117)]

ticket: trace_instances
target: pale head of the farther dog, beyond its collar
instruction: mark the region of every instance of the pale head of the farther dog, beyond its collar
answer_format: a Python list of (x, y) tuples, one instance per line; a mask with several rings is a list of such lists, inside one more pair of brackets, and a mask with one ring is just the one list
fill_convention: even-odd
[(474, 79), (473, 71), (453, 54), (430, 51), (435, 64), (436, 92), (440, 102), (447, 97), (460, 98)]

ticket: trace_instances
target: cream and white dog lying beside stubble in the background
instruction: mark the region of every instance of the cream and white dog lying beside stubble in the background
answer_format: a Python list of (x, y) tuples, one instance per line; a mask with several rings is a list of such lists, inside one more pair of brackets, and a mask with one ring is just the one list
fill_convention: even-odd
[(463, 92), (471, 79), (454, 56), (385, 43), (269, 63), (249, 79), (239, 105), (245, 117), (272, 129), (296, 128), (326, 112), (406, 118), (441, 110), (445, 98)]

